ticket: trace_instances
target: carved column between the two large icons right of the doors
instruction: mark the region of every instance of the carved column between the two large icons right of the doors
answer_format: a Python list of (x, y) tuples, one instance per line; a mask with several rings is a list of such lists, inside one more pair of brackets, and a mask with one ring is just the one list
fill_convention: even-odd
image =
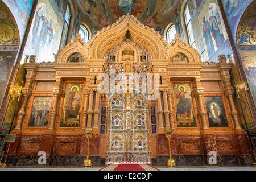
[(200, 119), (201, 119), (201, 129), (202, 130), (207, 130), (207, 113), (204, 109), (204, 101), (203, 101), (203, 93), (204, 93), (204, 89), (201, 85), (200, 82), (200, 78), (195, 78), (195, 95), (197, 97), (197, 101), (199, 104), (199, 115), (200, 115)]

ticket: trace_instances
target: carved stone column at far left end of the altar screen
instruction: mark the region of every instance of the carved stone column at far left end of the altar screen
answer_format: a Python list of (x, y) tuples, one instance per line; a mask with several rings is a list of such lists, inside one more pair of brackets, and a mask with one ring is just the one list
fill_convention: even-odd
[[(31, 56), (32, 57), (32, 56)], [(27, 69), (26, 83), (22, 89), (22, 104), (17, 117), (17, 122), (14, 130), (22, 130), (22, 122), (24, 115), (26, 114), (27, 99), (32, 93), (32, 84), (35, 80), (37, 65), (35, 63), (26, 63), (25, 68)]]

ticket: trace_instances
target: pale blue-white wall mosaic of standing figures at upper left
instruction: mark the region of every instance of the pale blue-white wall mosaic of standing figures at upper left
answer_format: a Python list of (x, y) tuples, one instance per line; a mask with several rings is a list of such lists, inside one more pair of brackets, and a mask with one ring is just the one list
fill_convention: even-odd
[(55, 61), (54, 54), (60, 48), (64, 24), (63, 12), (58, 13), (56, 2), (51, 1), (40, 0), (38, 2), (24, 49), (24, 55), (36, 55), (39, 62)]

